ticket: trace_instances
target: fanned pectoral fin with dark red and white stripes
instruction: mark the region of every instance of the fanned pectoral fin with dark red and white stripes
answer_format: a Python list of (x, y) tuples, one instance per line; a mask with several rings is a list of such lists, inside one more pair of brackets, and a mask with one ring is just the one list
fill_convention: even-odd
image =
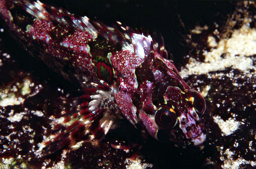
[(82, 89), (82, 94), (72, 102), (64, 100), (71, 106), (63, 106), (63, 111), (50, 116), (44, 155), (68, 146), (75, 148), (84, 141), (100, 141), (106, 136), (120, 112), (112, 89), (106, 83), (94, 85)]

